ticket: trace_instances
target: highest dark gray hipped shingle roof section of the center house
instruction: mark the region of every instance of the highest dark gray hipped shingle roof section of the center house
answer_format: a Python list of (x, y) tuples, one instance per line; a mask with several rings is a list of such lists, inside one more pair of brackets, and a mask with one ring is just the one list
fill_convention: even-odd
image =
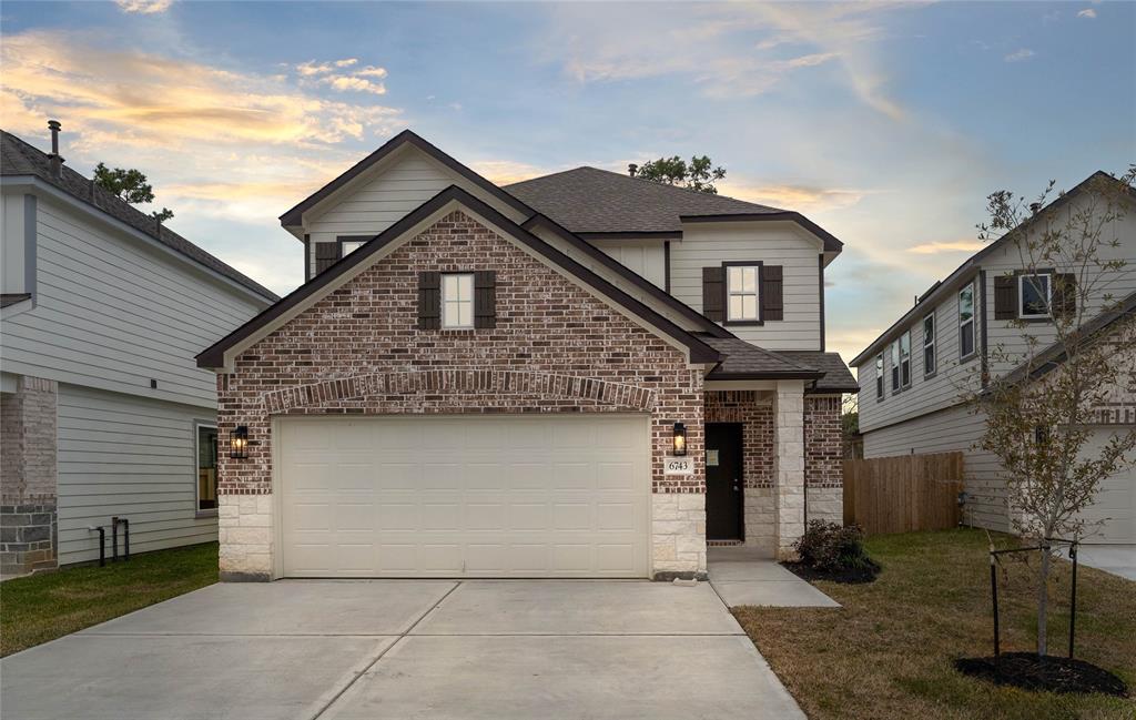
[(504, 190), (574, 233), (674, 233), (683, 229), (682, 216), (785, 212), (594, 167), (535, 177)]

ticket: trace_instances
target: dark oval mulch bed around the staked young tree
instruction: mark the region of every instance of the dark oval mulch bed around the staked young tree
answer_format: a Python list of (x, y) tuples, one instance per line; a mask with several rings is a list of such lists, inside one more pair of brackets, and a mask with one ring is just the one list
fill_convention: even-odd
[(994, 658), (960, 658), (954, 661), (954, 667), (963, 675), (1027, 690), (1128, 695), (1124, 680), (1084, 660), (1053, 655), (1038, 658), (1037, 653), (1003, 653), (996, 664)]

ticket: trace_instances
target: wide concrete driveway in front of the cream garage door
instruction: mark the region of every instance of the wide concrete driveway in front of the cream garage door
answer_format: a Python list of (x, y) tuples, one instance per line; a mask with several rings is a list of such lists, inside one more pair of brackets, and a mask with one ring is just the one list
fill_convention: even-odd
[(801, 718), (705, 583), (214, 585), (0, 661), (5, 718)]

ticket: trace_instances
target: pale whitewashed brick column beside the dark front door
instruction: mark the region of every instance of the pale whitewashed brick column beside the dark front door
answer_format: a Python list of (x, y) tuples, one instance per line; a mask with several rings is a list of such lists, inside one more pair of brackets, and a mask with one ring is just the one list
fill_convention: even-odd
[(804, 534), (804, 383), (777, 383), (774, 417), (777, 558), (785, 560), (795, 555), (793, 543)]

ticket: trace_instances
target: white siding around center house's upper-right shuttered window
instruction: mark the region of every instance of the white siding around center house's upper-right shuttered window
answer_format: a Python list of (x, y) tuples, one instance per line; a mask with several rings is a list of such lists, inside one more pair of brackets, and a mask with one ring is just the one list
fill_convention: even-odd
[(724, 260), (761, 260), (784, 273), (785, 319), (729, 326), (769, 350), (820, 349), (820, 241), (788, 223), (691, 224), (670, 243), (670, 294), (702, 311), (702, 268)]

